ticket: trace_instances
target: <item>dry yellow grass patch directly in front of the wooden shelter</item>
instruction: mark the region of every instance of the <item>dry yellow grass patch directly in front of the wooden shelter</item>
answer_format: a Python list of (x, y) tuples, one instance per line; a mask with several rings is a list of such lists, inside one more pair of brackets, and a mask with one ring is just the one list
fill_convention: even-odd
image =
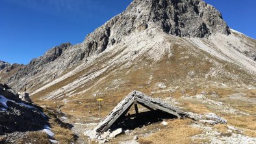
[(140, 138), (138, 141), (146, 143), (193, 143), (191, 137), (200, 134), (201, 130), (192, 128), (189, 125), (193, 123), (190, 119), (177, 119), (168, 121), (166, 128), (155, 132), (146, 138)]

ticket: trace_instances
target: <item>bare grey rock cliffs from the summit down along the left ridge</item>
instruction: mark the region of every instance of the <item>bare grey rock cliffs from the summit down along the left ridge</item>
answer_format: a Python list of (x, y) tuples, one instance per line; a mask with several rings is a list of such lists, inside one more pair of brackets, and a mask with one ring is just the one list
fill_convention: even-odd
[[(21, 84), (26, 83), (25, 81), (28, 83), (31, 80), (37, 81), (32, 82), (36, 85), (47, 83), (61, 75), (66, 69), (77, 66), (89, 60), (90, 57), (105, 51), (107, 47), (122, 42), (124, 36), (129, 36), (133, 32), (145, 30), (148, 27), (159, 27), (164, 32), (175, 36), (199, 38), (210, 36), (216, 32), (230, 33), (220, 12), (203, 1), (137, 0), (133, 1), (122, 14), (110, 19), (105, 25), (88, 34), (83, 43), (68, 45), (70, 47), (68, 51), (64, 51), (58, 56), (55, 62), (45, 63), (42, 69), (42, 66), (34, 63), (44, 58), (32, 60), (31, 64), (19, 71), (8, 83), (17, 89), (21, 89)], [(43, 57), (47, 56), (48, 54), (45, 54)], [(31, 86), (29, 85), (29, 87)]]

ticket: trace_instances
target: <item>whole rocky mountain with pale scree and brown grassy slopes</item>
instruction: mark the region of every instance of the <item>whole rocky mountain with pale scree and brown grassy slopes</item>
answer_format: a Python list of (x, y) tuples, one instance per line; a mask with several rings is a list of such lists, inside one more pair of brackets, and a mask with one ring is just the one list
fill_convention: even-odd
[[(229, 29), (201, 0), (134, 0), (86, 36), (64, 43), (3, 76), (16, 90), (28, 84), (40, 99), (75, 99), (110, 91), (155, 91), (256, 84), (256, 40)], [(6, 78), (8, 77), (8, 78)]]

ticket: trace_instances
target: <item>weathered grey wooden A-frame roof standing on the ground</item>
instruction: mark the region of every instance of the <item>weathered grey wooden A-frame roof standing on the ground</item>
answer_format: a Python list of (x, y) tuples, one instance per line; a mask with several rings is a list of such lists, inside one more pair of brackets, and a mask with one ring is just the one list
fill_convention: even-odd
[(94, 128), (94, 130), (96, 130), (97, 134), (101, 134), (101, 133), (107, 131), (110, 128), (110, 126), (112, 126), (114, 124), (114, 122), (117, 121), (117, 119), (119, 117), (125, 116), (125, 114), (127, 114), (127, 112), (130, 110), (131, 106), (133, 106), (133, 105), (135, 107), (136, 114), (138, 114), (137, 104), (140, 104), (140, 105), (148, 108), (149, 110), (157, 110), (157, 109), (162, 110), (163, 112), (167, 112), (168, 114), (175, 115), (179, 119), (181, 117), (188, 116), (188, 114), (186, 114), (185, 112), (182, 112), (178, 108), (176, 108), (174, 106), (170, 106), (170, 105), (166, 104), (165, 102), (160, 101), (159, 99), (153, 99), (140, 91), (133, 91), (133, 92), (129, 93), (129, 95), (127, 95), (127, 97), (125, 97), (125, 99), (123, 99), (112, 110), (112, 112), (110, 112), (110, 114), (107, 115), (107, 117), (105, 117), (99, 123), (99, 125), (96, 126), (96, 128)]

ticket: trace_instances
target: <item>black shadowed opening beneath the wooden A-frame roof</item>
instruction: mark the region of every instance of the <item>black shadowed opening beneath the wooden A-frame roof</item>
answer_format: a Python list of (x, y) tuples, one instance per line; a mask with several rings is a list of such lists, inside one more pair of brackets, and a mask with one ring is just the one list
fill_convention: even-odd
[(175, 119), (175, 115), (163, 112), (162, 110), (150, 110), (147, 112), (140, 112), (133, 115), (121, 116), (112, 126), (110, 130), (123, 128), (123, 130), (134, 130), (135, 128), (142, 128), (146, 125), (151, 125), (163, 121), (163, 119)]

